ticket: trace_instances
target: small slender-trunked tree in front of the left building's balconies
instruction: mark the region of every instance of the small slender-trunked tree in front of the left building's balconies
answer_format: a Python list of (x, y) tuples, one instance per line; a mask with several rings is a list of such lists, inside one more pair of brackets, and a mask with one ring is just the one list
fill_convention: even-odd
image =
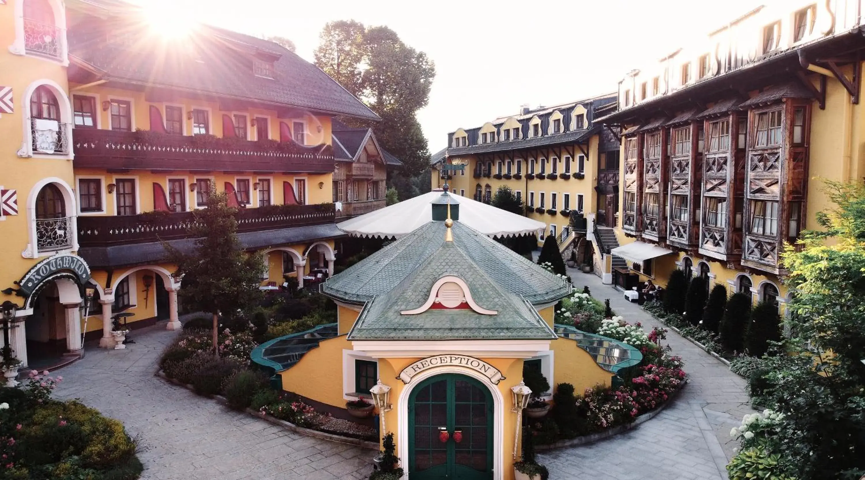
[(195, 221), (189, 234), (195, 237), (195, 248), (185, 253), (163, 242), (167, 259), (177, 266), (176, 276), (190, 278), (183, 282), (180, 296), (183, 304), (213, 317), (214, 354), (219, 356), (218, 329), (220, 312), (247, 310), (261, 298), (261, 253), (247, 253), (237, 238), (236, 209), (227, 206), (225, 192), (217, 192), (210, 183), (207, 208), (193, 211)]

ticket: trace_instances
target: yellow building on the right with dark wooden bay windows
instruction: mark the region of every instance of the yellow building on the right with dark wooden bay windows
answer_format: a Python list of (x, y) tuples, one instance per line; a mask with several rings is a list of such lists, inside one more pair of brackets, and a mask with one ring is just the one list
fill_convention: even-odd
[(622, 144), (618, 285), (680, 268), (783, 310), (780, 253), (820, 228), (821, 179), (865, 176), (851, 12), (862, 3), (759, 7), (619, 82), (600, 119)]

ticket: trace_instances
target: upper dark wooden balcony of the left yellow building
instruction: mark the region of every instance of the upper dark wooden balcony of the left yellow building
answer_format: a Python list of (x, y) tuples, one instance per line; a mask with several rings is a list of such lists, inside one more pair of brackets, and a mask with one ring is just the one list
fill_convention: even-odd
[(333, 149), (155, 131), (73, 130), (76, 168), (330, 173)]

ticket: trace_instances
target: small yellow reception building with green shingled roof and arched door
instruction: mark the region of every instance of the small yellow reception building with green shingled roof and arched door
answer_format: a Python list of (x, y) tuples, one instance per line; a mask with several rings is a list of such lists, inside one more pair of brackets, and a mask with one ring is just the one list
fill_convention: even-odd
[(460, 221), (458, 202), (444, 192), (431, 214), (419, 206), (426, 223), (328, 278), (337, 323), (263, 343), (253, 362), (335, 416), (387, 389), (381, 432), (408, 478), (511, 480), (523, 368), (583, 392), (642, 355), (554, 325), (572, 285)]

